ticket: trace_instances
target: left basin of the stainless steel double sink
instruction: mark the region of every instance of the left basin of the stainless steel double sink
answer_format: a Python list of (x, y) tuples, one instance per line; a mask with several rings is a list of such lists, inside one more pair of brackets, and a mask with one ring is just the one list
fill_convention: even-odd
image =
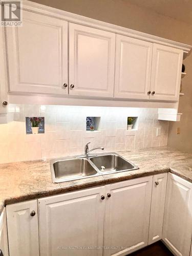
[(98, 175), (97, 170), (86, 158), (51, 160), (53, 182), (78, 180)]

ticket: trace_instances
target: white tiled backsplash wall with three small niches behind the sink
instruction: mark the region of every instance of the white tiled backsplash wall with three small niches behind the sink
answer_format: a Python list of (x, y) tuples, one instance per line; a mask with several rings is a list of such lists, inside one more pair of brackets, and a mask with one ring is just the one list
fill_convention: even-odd
[[(77, 155), (88, 142), (105, 151), (167, 144), (168, 122), (157, 120), (157, 109), (11, 104), (9, 112), (14, 121), (0, 124), (1, 163)], [(26, 134), (26, 116), (45, 117), (45, 134)], [(87, 116), (100, 117), (99, 131), (86, 132)], [(128, 116), (138, 116), (138, 130), (126, 130)]]

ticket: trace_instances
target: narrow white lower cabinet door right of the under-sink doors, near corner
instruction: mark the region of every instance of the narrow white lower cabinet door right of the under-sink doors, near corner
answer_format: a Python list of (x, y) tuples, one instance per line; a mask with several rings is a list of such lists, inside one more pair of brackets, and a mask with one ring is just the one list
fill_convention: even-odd
[(166, 184), (167, 173), (154, 175), (150, 214), (150, 231), (148, 234), (149, 244), (152, 244), (162, 238)]

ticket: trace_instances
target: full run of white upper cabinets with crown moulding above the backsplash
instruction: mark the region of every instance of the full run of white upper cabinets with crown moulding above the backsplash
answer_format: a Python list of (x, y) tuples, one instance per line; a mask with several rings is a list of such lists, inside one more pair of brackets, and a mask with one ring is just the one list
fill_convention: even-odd
[(23, 7), (23, 26), (6, 27), (6, 48), (1, 28), (0, 113), (7, 111), (7, 85), (14, 103), (37, 103), (20, 95), (36, 93), (53, 95), (39, 97), (42, 104), (100, 105), (100, 98), (102, 105), (175, 108), (183, 52), (191, 46), (51, 8), (35, 13), (30, 3)]

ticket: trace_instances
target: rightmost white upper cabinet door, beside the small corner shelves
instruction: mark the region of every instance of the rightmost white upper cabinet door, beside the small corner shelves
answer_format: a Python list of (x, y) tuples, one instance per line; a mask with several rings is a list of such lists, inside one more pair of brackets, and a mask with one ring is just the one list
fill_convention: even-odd
[(182, 61), (182, 50), (154, 44), (150, 99), (179, 100)]

